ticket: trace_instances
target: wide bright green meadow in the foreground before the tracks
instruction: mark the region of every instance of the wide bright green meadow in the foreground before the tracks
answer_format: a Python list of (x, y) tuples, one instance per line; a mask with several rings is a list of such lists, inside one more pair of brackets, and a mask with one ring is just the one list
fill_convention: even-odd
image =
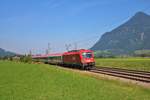
[(149, 94), (56, 66), (0, 61), (0, 100), (149, 100)]

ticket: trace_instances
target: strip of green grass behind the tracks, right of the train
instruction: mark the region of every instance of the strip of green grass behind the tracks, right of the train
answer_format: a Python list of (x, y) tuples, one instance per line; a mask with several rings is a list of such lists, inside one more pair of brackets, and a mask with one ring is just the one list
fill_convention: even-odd
[(96, 65), (150, 71), (150, 58), (102, 58)]

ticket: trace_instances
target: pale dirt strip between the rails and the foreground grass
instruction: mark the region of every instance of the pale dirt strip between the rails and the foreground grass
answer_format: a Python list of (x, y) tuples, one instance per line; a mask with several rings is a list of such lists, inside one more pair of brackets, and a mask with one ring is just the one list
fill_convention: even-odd
[(88, 75), (88, 76), (91, 76), (91, 77), (95, 77), (97, 79), (116, 80), (116, 81), (127, 83), (127, 84), (133, 84), (133, 85), (138, 85), (138, 86), (142, 86), (142, 87), (145, 87), (145, 88), (150, 88), (150, 83), (144, 83), (144, 82), (140, 82), (140, 81), (125, 79), (125, 78), (120, 78), (120, 77), (115, 77), (115, 76), (110, 76), (110, 75), (105, 75), (105, 74), (93, 73), (93, 72), (89, 72), (89, 71), (86, 71), (86, 70), (64, 68), (64, 67), (60, 67), (60, 68), (68, 70), (68, 71), (73, 71), (73, 72), (76, 72), (76, 73)]

